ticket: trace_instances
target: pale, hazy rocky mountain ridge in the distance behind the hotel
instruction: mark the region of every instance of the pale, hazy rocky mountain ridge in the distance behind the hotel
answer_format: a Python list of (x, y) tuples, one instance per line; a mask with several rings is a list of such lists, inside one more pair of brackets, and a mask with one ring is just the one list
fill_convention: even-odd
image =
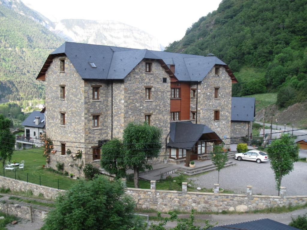
[(163, 50), (157, 38), (136, 27), (118, 21), (63, 19), (52, 22), (20, 0), (0, 0), (3, 6), (24, 15), (66, 41), (112, 45), (128, 48)]

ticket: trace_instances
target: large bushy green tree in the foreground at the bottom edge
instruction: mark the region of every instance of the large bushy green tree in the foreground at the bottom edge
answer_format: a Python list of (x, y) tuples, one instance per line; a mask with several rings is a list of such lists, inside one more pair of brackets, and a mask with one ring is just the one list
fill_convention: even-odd
[(104, 176), (95, 176), (90, 181), (80, 180), (60, 194), (42, 229), (140, 229), (134, 207), (120, 181), (110, 182)]

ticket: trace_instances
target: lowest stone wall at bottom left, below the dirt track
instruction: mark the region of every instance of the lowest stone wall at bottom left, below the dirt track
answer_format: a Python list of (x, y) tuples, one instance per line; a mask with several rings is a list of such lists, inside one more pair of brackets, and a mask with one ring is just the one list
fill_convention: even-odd
[[(0, 203), (0, 210), (3, 213), (7, 213), (15, 217), (31, 220), (31, 208), (28, 205)], [(45, 217), (47, 216), (47, 213), (48, 213), (47, 211), (32, 208), (33, 222), (44, 220)]]

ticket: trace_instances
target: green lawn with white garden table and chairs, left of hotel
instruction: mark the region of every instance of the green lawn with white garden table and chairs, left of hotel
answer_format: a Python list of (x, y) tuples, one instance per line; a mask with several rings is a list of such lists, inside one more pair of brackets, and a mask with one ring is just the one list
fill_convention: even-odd
[[(71, 185), (76, 183), (76, 180), (74, 179), (47, 171), (42, 167), (43, 164), (46, 164), (46, 158), (43, 156), (42, 148), (14, 151), (12, 160), (17, 160), (17, 162), (21, 162), (21, 160), (25, 161), (25, 170), (15, 171), (16, 179), (18, 180), (27, 181), (28, 174), (28, 182), (40, 184), (41, 176), (41, 185), (58, 188), (59, 180), (60, 189), (68, 189)], [(5, 176), (15, 178), (15, 172), (6, 170)], [(0, 175), (3, 176), (2, 164), (0, 164)]]

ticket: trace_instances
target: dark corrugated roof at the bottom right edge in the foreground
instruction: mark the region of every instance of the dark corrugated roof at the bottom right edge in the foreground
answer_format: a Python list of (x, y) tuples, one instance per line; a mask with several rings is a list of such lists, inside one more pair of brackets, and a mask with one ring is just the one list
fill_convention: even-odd
[(243, 222), (239, 224), (229, 224), (223, 226), (217, 226), (211, 228), (210, 230), (298, 230), (298, 228), (291, 227), (286, 224), (279, 223), (270, 219), (253, 220), (248, 222)]

